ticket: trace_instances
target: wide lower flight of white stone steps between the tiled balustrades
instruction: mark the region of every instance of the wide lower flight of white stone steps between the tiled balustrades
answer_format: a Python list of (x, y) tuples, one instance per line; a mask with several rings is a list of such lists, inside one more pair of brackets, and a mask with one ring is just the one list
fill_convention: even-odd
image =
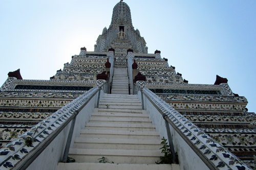
[[(58, 169), (179, 169), (155, 163), (160, 143), (136, 95), (105, 94), (69, 151), (76, 163), (59, 163)], [(99, 163), (102, 157), (110, 163)]]

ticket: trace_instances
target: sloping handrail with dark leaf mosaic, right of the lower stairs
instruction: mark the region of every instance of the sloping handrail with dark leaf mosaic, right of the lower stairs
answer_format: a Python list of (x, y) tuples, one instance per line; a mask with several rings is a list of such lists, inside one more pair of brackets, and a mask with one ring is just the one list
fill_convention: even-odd
[[(141, 93), (142, 109), (145, 107), (145, 102), (143, 100), (143, 96), (145, 96), (145, 98), (162, 114), (163, 119), (172, 126), (174, 131), (182, 137), (209, 169), (219, 169), (222, 167), (229, 169), (251, 169), (243, 161), (237, 158), (237, 156), (230, 153), (209, 135), (201, 131), (200, 128), (185, 118), (172, 106), (164, 102), (151, 90), (143, 88), (140, 89), (139, 92)], [(138, 93), (138, 96), (139, 95), (140, 94)], [(169, 143), (172, 143), (172, 141), (169, 141)]]

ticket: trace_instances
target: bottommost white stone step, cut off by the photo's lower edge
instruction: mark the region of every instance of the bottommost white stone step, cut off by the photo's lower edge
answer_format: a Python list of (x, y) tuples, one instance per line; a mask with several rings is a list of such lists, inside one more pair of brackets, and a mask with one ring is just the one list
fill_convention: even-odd
[(179, 170), (178, 164), (58, 163), (57, 170)]

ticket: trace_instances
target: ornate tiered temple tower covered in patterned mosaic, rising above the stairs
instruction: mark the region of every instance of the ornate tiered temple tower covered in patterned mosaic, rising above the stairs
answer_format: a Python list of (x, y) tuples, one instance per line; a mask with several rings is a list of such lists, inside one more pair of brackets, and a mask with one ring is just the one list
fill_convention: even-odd
[(137, 94), (137, 82), (254, 166), (256, 114), (247, 112), (246, 98), (233, 93), (227, 79), (219, 76), (214, 84), (189, 84), (160, 51), (148, 54), (122, 1), (114, 7), (111, 25), (97, 38), (94, 52), (81, 47), (50, 80), (22, 80), (19, 70), (8, 76), (0, 89), (1, 147), (100, 83), (106, 82), (105, 93)]

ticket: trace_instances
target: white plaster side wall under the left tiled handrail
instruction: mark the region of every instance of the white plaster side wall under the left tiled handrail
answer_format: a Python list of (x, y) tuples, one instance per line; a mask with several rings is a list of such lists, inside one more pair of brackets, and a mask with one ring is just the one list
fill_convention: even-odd
[[(104, 93), (101, 90), (100, 99), (103, 97)], [(90, 102), (84, 106), (84, 108), (79, 112), (76, 117), (76, 124), (74, 127), (74, 132), (71, 140), (71, 148), (74, 144), (74, 139), (80, 136), (81, 129), (84, 128), (86, 123), (89, 122), (92, 112), (97, 105), (98, 93), (90, 100)], [(48, 145), (48, 147), (30, 164), (27, 169), (56, 169), (57, 163), (61, 161), (63, 152), (66, 147), (66, 141), (68, 138), (70, 126), (72, 121), (64, 128), (56, 138)]]

